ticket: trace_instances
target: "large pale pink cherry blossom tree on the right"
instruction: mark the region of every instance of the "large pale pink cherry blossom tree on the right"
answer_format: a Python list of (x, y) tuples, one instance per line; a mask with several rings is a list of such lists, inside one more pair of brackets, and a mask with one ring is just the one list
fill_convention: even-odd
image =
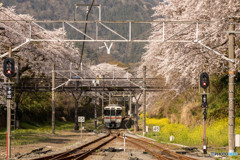
[[(153, 17), (157, 21), (199, 22), (198, 40), (227, 57), (229, 17), (240, 15), (239, 5), (237, 0), (169, 0), (154, 8)], [(164, 76), (166, 83), (179, 91), (190, 85), (198, 85), (199, 75), (203, 71), (209, 74), (221, 73), (227, 61), (197, 43), (196, 24), (166, 23), (165, 39), (183, 30), (169, 40), (185, 39), (192, 43), (151, 42), (145, 47), (146, 53), (140, 68), (146, 65), (149, 72), (156, 73), (155, 76)], [(239, 28), (238, 25), (236, 27)], [(153, 24), (149, 39), (162, 39), (162, 28), (162, 23)], [(236, 59), (239, 56), (237, 48)]]

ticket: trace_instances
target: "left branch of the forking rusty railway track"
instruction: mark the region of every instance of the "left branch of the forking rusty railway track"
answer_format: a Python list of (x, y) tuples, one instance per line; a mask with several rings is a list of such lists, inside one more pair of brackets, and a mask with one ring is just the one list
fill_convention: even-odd
[(99, 149), (100, 147), (111, 142), (113, 139), (119, 136), (119, 132), (111, 133), (111, 131), (94, 141), (84, 144), (80, 147), (66, 151), (63, 153), (58, 153), (50, 156), (40, 157), (33, 160), (79, 160), (88, 157), (91, 153)]

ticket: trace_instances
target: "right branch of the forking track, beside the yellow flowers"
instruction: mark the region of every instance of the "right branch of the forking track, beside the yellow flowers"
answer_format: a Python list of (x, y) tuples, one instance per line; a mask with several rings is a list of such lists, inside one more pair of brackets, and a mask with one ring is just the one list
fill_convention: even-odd
[[(122, 136), (118, 138), (123, 139)], [(194, 158), (183, 156), (175, 152), (166, 150), (165, 148), (155, 144), (154, 141), (151, 142), (129, 136), (126, 138), (126, 141), (146, 150), (159, 160), (196, 160)]]

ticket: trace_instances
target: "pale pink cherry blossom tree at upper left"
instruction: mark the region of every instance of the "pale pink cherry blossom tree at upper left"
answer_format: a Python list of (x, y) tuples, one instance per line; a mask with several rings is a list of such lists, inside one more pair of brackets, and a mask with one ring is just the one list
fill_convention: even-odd
[[(32, 39), (60, 39), (63, 33), (62, 28), (56, 28), (52, 31), (42, 29), (37, 23), (32, 23), (32, 31), (29, 31), (29, 23), (22, 20), (34, 20), (27, 14), (16, 14), (14, 7), (1, 7), (0, 12), (2, 21), (0, 26), (5, 28), (0, 34), (0, 54), (8, 52), (9, 47), (15, 48), (24, 43), (26, 38)], [(17, 21), (20, 20), (20, 21)], [(64, 31), (65, 32), (65, 31)], [(21, 67), (28, 67), (35, 75), (49, 74), (52, 64), (55, 63), (59, 69), (68, 69), (70, 62), (79, 66), (78, 49), (73, 43), (69, 42), (29, 42), (14, 52), (14, 59), (21, 63)], [(2, 65), (2, 63), (0, 63)], [(2, 67), (1, 67), (2, 69)]]

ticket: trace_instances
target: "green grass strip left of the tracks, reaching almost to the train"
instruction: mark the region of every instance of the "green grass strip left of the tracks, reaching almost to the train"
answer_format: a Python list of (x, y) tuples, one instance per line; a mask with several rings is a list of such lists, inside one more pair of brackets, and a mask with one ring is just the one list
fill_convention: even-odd
[[(100, 121), (99, 121), (100, 122)], [(85, 130), (94, 130), (94, 119), (86, 120), (83, 127)], [(51, 122), (45, 122), (45, 124), (33, 124), (24, 123), (20, 124), (21, 129), (11, 131), (11, 144), (14, 146), (34, 144), (38, 142), (48, 142), (56, 136), (61, 136), (61, 131), (74, 131), (74, 123), (72, 122), (60, 122), (56, 121), (55, 124), (55, 135), (52, 134)], [(79, 123), (79, 128), (81, 124)], [(98, 124), (98, 129), (102, 127), (101, 122)], [(79, 131), (80, 132), (80, 129)], [(6, 129), (0, 130), (0, 147), (6, 146)]]

